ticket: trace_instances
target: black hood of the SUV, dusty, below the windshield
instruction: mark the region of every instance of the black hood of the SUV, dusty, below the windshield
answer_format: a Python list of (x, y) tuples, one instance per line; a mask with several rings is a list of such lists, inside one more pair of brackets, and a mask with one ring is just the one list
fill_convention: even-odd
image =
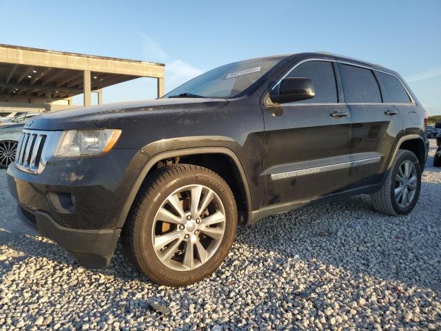
[(148, 120), (154, 115), (176, 112), (198, 112), (225, 106), (225, 99), (172, 98), (120, 103), (106, 103), (99, 106), (70, 108), (48, 112), (30, 119), (25, 128), (34, 130), (74, 130), (121, 128), (126, 121)]

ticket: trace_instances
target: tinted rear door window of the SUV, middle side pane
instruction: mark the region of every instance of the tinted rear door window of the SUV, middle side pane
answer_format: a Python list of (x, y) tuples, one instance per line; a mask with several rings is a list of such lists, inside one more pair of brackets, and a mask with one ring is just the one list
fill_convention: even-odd
[(342, 64), (340, 74), (346, 102), (381, 103), (380, 87), (372, 70)]

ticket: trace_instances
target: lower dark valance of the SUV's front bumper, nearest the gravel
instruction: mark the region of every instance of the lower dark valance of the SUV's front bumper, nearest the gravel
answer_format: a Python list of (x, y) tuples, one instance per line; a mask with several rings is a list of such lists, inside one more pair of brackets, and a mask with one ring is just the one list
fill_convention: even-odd
[(49, 214), (17, 206), (21, 221), (70, 252), (86, 268), (105, 268), (112, 258), (121, 229), (79, 230), (59, 225)]

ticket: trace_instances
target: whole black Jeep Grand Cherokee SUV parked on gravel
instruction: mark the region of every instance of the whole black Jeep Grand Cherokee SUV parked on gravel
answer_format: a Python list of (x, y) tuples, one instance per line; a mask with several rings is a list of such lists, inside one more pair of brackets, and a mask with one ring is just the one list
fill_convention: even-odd
[(157, 283), (214, 272), (238, 224), (371, 194), (407, 214), (427, 159), (424, 109), (396, 72), (330, 54), (210, 70), (161, 99), (45, 114), (8, 168), (21, 218), (104, 268), (120, 235)]

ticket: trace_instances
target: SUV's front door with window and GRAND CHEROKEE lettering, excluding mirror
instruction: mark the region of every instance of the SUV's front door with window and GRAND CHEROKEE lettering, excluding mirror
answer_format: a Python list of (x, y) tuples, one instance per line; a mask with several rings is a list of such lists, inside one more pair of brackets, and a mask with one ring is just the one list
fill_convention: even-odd
[(287, 77), (311, 79), (316, 96), (264, 111), (264, 206), (322, 197), (347, 185), (351, 117), (335, 70), (331, 60), (299, 63)]

